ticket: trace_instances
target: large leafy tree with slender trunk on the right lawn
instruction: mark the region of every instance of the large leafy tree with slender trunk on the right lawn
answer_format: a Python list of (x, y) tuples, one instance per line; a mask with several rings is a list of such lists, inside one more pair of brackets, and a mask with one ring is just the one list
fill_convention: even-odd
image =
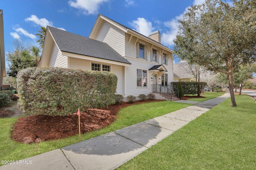
[(179, 20), (174, 51), (182, 60), (228, 75), (232, 106), (233, 72), (256, 61), (256, 1), (206, 0)]

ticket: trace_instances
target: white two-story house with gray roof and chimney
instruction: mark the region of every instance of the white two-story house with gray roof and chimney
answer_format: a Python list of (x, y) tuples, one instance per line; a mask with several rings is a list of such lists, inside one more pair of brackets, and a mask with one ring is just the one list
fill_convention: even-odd
[(118, 77), (116, 94), (126, 98), (168, 87), (173, 53), (161, 44), (160, 31), (146, 37), (99, 14), (88, 38), (47, 26), (38, 66), (111, 71)]

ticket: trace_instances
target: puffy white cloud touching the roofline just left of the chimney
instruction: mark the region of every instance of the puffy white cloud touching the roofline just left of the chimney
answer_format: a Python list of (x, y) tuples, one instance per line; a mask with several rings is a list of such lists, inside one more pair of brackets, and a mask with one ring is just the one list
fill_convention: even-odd
[(145, 36), (148, 36), (154, 29), (154, 27), (152, 27), (152, 23), (148, 22), (144, 18), (137, 18), (137, 20), (132, 21), (130, 24), (135, 28), (135, 31)]

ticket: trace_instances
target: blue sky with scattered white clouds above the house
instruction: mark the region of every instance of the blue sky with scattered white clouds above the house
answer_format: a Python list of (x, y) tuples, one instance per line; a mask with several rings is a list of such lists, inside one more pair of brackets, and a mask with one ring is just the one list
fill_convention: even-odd
[(188, 7), (202, 2), (204, 0), (1, 0), (5, 54), (14, 50), (15, 39), (22, 40), (24, 45), (39, 47), (35, 34), (41, 26), (50, 25), (88, 37), (98, 14), (146, 36), (160, 30), (162, 44), (172, 49), (178, 19)]

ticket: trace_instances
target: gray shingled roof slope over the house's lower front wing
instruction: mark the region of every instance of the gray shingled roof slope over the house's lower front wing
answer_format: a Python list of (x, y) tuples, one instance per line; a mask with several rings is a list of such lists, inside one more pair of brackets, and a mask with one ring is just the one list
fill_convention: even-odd
[(47, 26), (60, 51), (131, 64), (107, 43)]

